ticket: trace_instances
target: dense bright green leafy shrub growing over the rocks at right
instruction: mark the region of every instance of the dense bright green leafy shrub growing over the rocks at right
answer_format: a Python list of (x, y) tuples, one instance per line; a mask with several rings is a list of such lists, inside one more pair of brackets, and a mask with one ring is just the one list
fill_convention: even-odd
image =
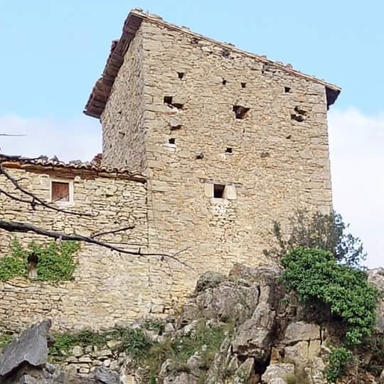
[(378, 291), (367, 275), (336, 262), (331, 252), (297, 247), (282, 258), (282, 277), (299, 299), (329, 307), (346, 325), (349, 345), (361, 343), (375, 326)]

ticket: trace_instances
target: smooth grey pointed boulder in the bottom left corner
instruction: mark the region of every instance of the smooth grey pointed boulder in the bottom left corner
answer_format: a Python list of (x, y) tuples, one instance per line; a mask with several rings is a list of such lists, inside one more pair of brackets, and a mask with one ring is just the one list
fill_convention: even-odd
[(47, 362), (49, 329), (50, 321), (42, 321), (4, 348), (0, 356), (0, 380), (22, 364), (39, 367)]

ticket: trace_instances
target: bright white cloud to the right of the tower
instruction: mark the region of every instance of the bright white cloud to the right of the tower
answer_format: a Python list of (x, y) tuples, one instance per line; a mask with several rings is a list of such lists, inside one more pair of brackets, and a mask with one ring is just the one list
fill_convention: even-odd
[(384, 265), (384, 114), (329, 113), (334, 207), (363, 240), (368, 267)]

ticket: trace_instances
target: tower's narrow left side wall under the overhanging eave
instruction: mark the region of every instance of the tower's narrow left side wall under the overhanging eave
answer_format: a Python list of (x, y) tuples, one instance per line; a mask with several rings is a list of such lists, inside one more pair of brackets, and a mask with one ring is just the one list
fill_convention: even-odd
[(137, 33), (102, 113), (102, 161), (106, 166), (145, 169), (142, 37)]

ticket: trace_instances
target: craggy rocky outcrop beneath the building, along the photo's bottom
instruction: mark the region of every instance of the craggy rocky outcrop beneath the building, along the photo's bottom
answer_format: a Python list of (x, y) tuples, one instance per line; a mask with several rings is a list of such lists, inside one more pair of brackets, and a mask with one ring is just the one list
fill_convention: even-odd
[[(75, 346), (62, 366), (52, 366), (46, 350), (50, 324), (43, 322), (4, 349), (0, 383), (326, 384), (332, 327), (308, 321), (294, 299), (287, 303), (279, 276), (277, 267), (241, 265), (227, 277), (203, 274), (177, 317), (157, 330), (146, 329), (143, 321), (132, 325), (154, 342), (155, 361), (137, 361), (119, 351), (119, 340), (110, 339), (105, 348)], [(369, 279), (384, 290), (383, 272), (370, 272)], [(370, 359), (375, 360), (373, 351), (363, 363)], [(384, 383), (380, 369), (358, 377), (358, 383)]]

